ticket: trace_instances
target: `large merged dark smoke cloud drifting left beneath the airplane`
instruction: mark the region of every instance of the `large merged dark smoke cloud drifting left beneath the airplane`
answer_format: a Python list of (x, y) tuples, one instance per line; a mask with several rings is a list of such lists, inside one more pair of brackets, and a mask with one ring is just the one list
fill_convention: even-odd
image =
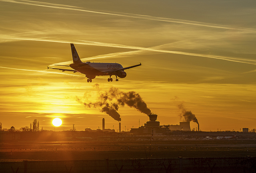
[(122, 92), (118, 88), (111, 87), (108, 91), (101, 91), (99, 85), (94, 85), (98, 91), (98, 98), (96, 102), (82, 102), (77, 98), (79, 102), (82, 102), (85, 107), (101, 108), (101, 112), (105, 112), (114, 120), (121, 121), (120, 114), (117, 112), (119, 106), (130, 106), (136, 108), (138, 111), (150, 115), (151, 110), (147, 107), (147, 104), (142, 100), (140, 94), (129, 91)]

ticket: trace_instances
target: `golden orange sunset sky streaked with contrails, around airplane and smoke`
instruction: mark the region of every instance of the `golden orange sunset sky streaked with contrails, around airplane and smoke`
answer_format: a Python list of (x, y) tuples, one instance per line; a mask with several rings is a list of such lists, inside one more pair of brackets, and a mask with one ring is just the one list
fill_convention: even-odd
[[(118, 129), (118, 122), (85, 108), (77, 98), (96, 101), (117, 87), (140, 94), (160, 124), (179, 124), (183, 103), (200, 130), (256, 128), (256, 2), (242, 1), (67, 1), (0, 0), (0, 122), (3, 128), (54, 130)], [(72, 63), (74, 43), (82, 61), (117, 62), (127, 77), (96, 77), (47, 70)], [(148, 117), (120, 107), (124, 126)], [(191, 128), (196, 128), (191, 123)]]

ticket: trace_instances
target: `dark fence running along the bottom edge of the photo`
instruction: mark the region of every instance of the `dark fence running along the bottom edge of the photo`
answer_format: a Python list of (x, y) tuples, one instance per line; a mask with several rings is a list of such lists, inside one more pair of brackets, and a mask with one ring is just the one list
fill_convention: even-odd
[(256, 172), (256, 157), (99, 159), (0, 162), (0, 173)]

